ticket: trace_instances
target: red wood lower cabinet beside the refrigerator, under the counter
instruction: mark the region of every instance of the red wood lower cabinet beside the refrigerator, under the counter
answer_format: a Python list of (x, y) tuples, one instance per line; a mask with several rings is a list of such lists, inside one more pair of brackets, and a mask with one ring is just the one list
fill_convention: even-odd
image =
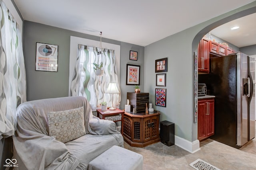
[(198, 140), (214, 135), (214, 99), (198, 100)]

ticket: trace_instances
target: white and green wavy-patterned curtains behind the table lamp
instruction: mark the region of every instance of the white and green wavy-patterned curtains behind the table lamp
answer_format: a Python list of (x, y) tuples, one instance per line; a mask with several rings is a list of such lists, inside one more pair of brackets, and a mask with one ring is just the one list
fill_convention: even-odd
[[(119, 92), (120, 86), (116, 73), (115, 51), (102, 49), (102, 55), (98, 55), (99, 48), (78, 45), (78, 55), (71, 82), (70, 96), (84, 96), (90, 102), (93, 110), (100, 106), (101, 102), (112, 105), (112, 94), (106, 94), (109, 83), (116, 83)], [(96, 76), (93, 63), (103, 63), (104, 74)], [(114, 105), (119, 105), (121, 93), (114, 94)]]

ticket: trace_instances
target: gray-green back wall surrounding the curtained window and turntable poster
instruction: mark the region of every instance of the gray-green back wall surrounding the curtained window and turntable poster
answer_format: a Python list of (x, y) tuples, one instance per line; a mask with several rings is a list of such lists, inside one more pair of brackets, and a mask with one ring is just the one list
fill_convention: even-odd
[[(70, 36), (82, 37), (96, 41), (100, 40), (100, 37), (97, 36), (78, 33), (31, 21), (24, 21), (24, 58), (26, 66), (28, 101), (68, 96)], [(58, 45), (58, 72), (35, 70), (36, 42)], [(140, 87), (142, 91), (144, 90), (144, 47), (106, 38), (102, 38), (102, 42), (121, 46), (120, 88), (122, 94), (120, 108), (124, 108), (126, 103), (126, 92), (134, 91), (134, 86), (126, 86), (127, 63), (141, 66)], [(138, 61), (129, 60), (130, 50), (138, 52)]]

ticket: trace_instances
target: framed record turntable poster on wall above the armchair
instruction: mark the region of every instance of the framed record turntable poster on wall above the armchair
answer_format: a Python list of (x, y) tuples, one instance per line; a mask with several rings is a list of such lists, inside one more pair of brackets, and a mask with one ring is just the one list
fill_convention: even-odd
[(36, 71), (58, 72), (58, 45), (36, 43)]

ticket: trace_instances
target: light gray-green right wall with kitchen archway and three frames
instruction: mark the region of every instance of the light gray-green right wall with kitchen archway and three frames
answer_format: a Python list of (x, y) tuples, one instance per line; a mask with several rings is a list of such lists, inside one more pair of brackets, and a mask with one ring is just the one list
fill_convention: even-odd
[[(168, 57), (166, 72), (166, 107), (154, 106), (161, 112), (160, 121), (175, 123), (175, 135), (187, 141), (197, 140), (194, 123), (194, 51), (206, 33), (224, 23), (256, 12), (256, 1), (236, 10), (212, 18), (204, 23), (166, 37), (145, 47), (145, 91), (153, 98), (156, 59)], [(153, 77), (153, 78), (152, 78)], [(154, 103), (154, 102), (152, 102)]]

